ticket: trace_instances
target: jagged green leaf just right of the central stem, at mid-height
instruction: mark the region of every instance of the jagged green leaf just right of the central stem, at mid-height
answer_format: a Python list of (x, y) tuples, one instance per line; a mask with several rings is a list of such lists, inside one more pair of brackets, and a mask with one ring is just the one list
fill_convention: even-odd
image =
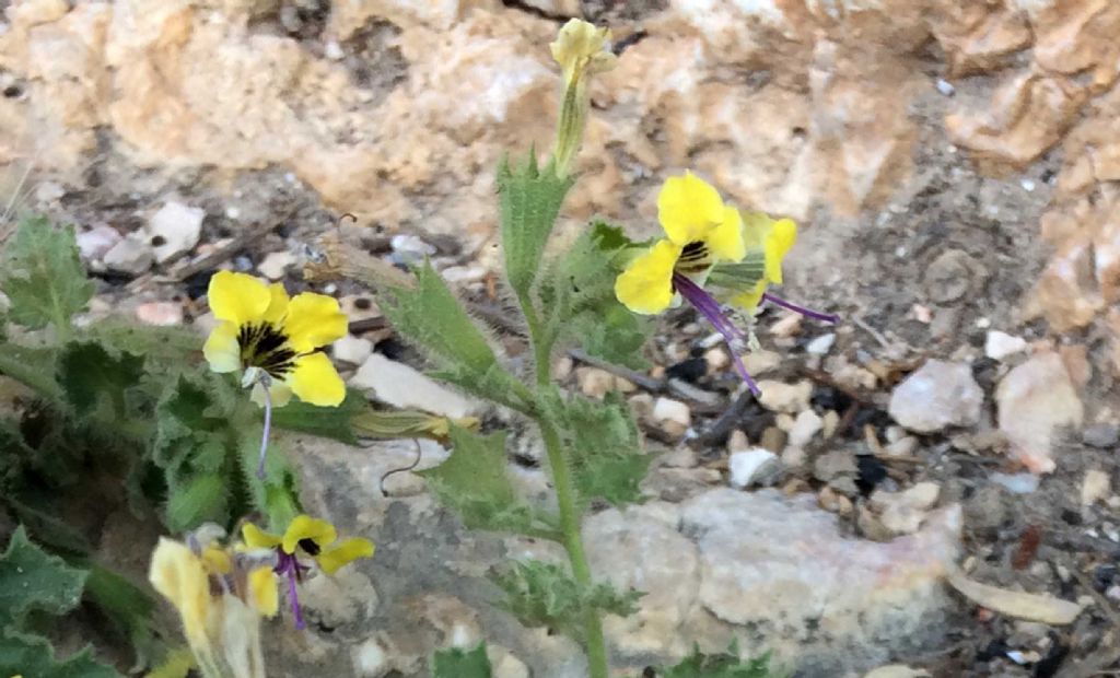
[(596, 402), (552, 390), (541, 400), (563, 440), (581, 503), (603, 499), (624, 507), (642, 501), (640, 485), (652, 456), (643, 453), (637, 425), (622, 396), (607, 393)]

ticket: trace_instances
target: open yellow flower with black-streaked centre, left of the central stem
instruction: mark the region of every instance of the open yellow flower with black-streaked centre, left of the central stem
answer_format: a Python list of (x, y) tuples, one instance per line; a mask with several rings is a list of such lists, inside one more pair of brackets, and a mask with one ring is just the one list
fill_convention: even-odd
[(282, 285), (231, 271), (211, 278), (208, 297), (222, 321), (203, 347), (213, 371), (268, 374), (277, 406), (292, 393), (318, 406), (337, 406), (346, 397), (342, 378), (320, 351), (346, 335), (346, 316), (336, 299), (312, 292), (289, 299)]

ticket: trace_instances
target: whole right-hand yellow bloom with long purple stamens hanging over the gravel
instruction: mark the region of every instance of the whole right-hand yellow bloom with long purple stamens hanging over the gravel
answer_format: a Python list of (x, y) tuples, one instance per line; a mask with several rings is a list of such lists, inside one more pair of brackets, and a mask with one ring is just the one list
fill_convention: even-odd
[(657, 217), (666, 238), (629, 262), (615, 280), (615, 296), (634, 313), (646, 315), (665, 310), (676, 295), (683, 297), (724, 335), (736, 370), (753, 392), (758, 393), (758, 387), (737, 347), (747, 341), (747, 334), (704, 286), (718, 288), (720, 298), (748, 313), (767, 300), (836, 322), (834, 316), (802, 308), (766, 291), (771, 284), (782, 282), (782, 259), (796, 239), (793, 221), (774, 221), (758, 213), (749, 213), (744, 221), (738, 210), (724, 204), (711, 185), (691, 173), (665, 180), (657, 195)]

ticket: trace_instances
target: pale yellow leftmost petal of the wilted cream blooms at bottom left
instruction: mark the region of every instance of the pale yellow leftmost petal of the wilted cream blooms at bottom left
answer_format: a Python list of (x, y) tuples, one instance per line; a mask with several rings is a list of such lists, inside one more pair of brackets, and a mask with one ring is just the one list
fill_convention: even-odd
[(211, 597), (203, 561), (186, 545), (161, 537), (151, 555), (148, 581), (178, 610), (187, 641), (207, 644)]

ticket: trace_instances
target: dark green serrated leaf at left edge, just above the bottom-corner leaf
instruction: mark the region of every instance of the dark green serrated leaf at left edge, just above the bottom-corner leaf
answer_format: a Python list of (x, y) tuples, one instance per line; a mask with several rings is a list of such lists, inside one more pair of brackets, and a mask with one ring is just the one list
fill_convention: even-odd
[(30, 611), (65, 614), (82, 600), (86, 573), (66, 565), (27, 539), (24, 527), (0, 555), (0, 631)]

